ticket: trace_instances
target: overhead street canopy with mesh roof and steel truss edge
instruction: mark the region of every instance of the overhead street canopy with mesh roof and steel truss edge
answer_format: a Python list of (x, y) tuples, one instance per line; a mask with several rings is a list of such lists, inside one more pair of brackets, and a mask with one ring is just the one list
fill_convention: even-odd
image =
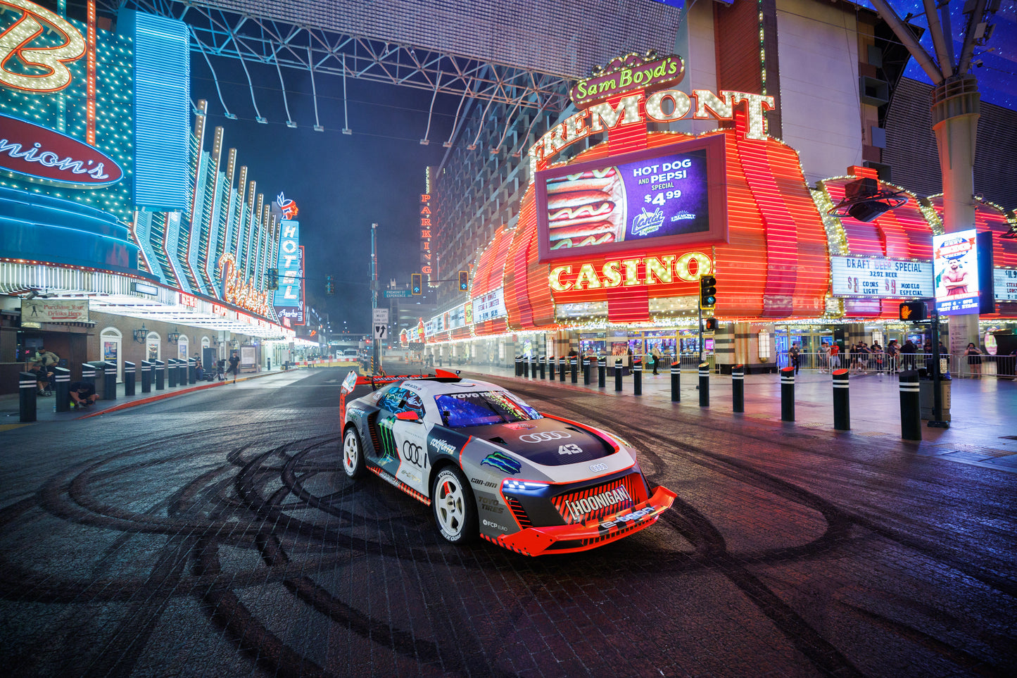
[(673, 47), (681, 11), (646, 0), (106, 0), (185, 21), (206, 56), (554, 113), (571, 79)]

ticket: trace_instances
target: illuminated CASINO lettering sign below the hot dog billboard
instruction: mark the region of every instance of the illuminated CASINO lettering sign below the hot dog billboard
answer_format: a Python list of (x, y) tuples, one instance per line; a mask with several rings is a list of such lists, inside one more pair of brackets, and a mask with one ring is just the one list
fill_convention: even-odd
[[(643, 267), (644, 275), (640, 275)], [(578, 270), (577, 270), (578, 268)], [(555, 292), (571, 289), (610, 289), (643, 285), (668, 285), (676, 281), (696, 282), (713, 271), (713, 262), (701, 251), (661, 257), (634, 257), (606, 261), (599, 270), (594, 264), (570, 264), (551, 269), (548, 284)]]

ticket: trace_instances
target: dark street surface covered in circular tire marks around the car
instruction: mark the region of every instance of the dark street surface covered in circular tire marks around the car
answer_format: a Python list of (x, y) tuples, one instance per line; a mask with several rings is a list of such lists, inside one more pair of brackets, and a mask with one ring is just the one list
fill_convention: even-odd
[(457, 548), (343, 474), (344, 372), (0, 432), (0, 673), (1017, 674), (1013, 473), (514, 384), (678, 499), (584, 554)]

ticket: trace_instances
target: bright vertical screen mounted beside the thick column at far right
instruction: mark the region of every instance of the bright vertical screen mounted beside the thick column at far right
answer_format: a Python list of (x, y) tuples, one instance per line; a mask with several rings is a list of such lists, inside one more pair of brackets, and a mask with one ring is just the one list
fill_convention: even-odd
[(936, 310), (941, 316), (978, 313), (975, 230), (933, 236)]

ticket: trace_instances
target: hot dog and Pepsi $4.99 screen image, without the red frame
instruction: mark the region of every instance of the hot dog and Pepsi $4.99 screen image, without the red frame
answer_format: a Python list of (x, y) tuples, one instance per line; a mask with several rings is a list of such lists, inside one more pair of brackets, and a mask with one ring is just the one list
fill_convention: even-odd
[(705, 150), (580, 169), (544, 180), (551, 251), (710, 230)]

